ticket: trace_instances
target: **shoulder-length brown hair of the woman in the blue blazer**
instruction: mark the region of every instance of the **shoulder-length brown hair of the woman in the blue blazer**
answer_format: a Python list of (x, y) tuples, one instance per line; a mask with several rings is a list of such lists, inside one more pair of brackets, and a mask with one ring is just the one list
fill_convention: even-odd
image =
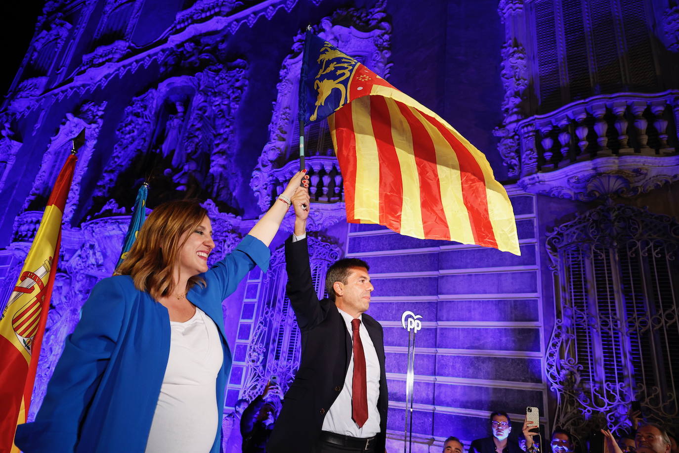
[[(155, 300), (175, 291), (172, 272), (183, 246), (181, 236), (202, 223), (207, 211), (198, 200), (177, 200), (159, 204), (139, 230), (125, 261), (116, 274), (130, 275), (134, 287), (147, 291)], [(189, 278), (186, 289), (196, 283), (205, 285), (199, 276)], [(183, 289), (181, 289), (183, 291)]]

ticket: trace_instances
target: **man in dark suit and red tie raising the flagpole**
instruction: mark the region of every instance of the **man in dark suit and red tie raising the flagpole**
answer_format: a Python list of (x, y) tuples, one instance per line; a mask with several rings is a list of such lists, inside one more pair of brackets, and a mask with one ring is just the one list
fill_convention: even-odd
[[(285, 201), (285, 200), (284, 200)], [(301, 361), (267, 451), (384, 452), (388, 395), (382, 326), (364, 314), (373, 285), (361, 259), (327, 272), (318, 300), (306, 241), (308, 192), (298, 191), (295, 234), (285, 243), (287, 295), (301, 331)]]

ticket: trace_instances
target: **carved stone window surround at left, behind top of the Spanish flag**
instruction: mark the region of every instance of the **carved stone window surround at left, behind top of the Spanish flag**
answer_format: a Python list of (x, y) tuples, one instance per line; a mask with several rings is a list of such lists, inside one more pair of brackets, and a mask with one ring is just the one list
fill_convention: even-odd
[[(50, 140), (50, 145), (43, 155), (40, 169), (33, 181), (33, 187), (26, 197), (22, 206), (24, 216), (28, 211), (43, 211), (52, 186), (61, 165), (73, 149), (72, 141), (83, 128), (85, 129), (85, 143), (78, 150), (78, 160), (73, 173), (71, 192), (67, 198), (64, 210), (64, 222), (70, 223), (73, 213), (77, 209), (80, 198), (80, 184), (87, 171), (90, 158), (94, 152), (94, 146), (103, 124), (103, 114), (106, 102), (96, 104), (85, 102), (81, 104), (76, 113), (67, 113), (66, 119), (59, 126), (58, 132)], [(30, 216), (29, 216), (30, 217)], [(16, 231), (16, 230), (15, 230)]]

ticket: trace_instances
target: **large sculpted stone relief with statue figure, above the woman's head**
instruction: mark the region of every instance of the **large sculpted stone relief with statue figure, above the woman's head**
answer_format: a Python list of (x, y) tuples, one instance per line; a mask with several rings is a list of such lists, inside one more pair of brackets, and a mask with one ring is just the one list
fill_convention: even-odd
[[(183, 52), (189, 58), (182, 58)], [(235, 122), (247, 88), (247, 64), (220, 63), (208, 54), (190, 44), (166, 54), (166, 73), (175, 62), (205, 67), (194, 75), (165, 79), (126, 108), (111, 159), (94, 190), (90, 217), (132, 206), (129, 188), (145, 180), (154, 200), (211, 198), (220, 209), (235, 211), (233, 194), (242, 181), (231, 162), (238, 149)]]

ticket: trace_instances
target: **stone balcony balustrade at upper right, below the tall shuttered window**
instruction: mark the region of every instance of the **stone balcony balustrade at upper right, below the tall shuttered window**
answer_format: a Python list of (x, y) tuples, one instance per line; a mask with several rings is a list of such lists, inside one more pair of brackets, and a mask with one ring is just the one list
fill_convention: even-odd
[(519, 122), (521, 177), (604, 156), (675, 152), (679, 91), (617, 93)]

